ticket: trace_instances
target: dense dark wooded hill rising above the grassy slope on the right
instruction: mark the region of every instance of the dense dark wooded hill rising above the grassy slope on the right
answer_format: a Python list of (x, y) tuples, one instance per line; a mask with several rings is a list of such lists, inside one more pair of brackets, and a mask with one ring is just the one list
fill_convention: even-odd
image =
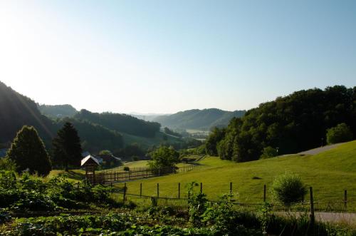
[(228, 128), (215, 129), (206, 147), (211, 155), (237, 161), (256, 160), (267, 147), (298, 153), (325, 145), (328, 128), (340, 123), (356, 137), (356, 87), (314, 88), (262, 103)]

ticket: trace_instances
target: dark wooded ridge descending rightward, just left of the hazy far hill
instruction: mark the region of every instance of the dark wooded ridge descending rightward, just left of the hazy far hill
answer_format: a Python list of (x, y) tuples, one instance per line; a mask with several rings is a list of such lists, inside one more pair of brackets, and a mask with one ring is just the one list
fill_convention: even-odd
[(91, 123), (103, 125), (110, 130), (116, 130), (130, 135), (153, 138), (159, 132), (160, 124), (140, 120), (133, 116), (118, 113), (91, 113), (81, 110), (74, 118), (88, 120)]

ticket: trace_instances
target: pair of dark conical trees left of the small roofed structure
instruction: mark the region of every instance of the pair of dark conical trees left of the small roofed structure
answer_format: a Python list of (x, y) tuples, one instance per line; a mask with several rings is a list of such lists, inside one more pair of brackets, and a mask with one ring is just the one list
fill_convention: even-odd
[(52, 166), (64, 168), (66, 171), (69, 167), (80, 167), (80, 138), (71, 123), (65, 123), (52, 142), (50, 155), (37, 130), (33, 126), (25, 125), (16, 134), (6, 158), (1, 160), (1, 166), (18, 173), (27, 171), (42, 176), (48, 175)]

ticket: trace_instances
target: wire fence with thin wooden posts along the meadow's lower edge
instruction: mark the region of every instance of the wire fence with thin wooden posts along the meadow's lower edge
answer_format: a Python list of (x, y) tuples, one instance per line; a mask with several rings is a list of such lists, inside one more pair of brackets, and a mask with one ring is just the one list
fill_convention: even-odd
[[(230, 194), (233, 195), (234, 192), (232, 190), (232, 183), (230, 184)], [(116, 200), (122, 201), (133, 201), (137, 202), (138, 204), (150, 205), (152, 201), (157, 202), (158, 205), (171, 205), (171, 206), (181, 206), (186, 207), (188, 206), (189, 195), (185, 193), (184, 188), (181, 188), (181, 184), (177, 184), (177, 193), (174, 195), (162, 195), (160, 192), (159, 183), (157, 183), (157, 194), (155, 195), (145, 195), (142, 193), (142, 183), (140, 183), (140, 189), (138, 191), (130, 190), (127, 188), (127, 184), (124, 183), (124, 186), (118, 187), (114, 186), (112, 188), (112, 197)], [(202, 183), (200, 184), (200, 192), (203, 193)], [(356, 196), (350, 195), (345, 190), (343, 197), (330, 197), (330, 198), (318, 198), (315, 196), (306, 195), (305, 198), (308, 199), (300, 200), (299, 202), (294, 202), (290, 205), (284, 205), (280, 202), (275, 202), (271, 199), (267, 199), (266, 197), (266, 185), (263, 186), (263, 198), (261, 197), (260, 202), (244, 202), (239, 201), (238, 199), (234, 199), (231, 197), (229, 200), (230, 205), (238, 206), (238, 207), (245, 207), (248, 210), (257, 210), (265, 205), (265, 202), (271, 201), (270, 206), (272, 207), (273, 211), (298, 211), (298, 212), (307, 212), (310, 211), (311, 208), (315, 211), (319, 212), (356, 212)], [(136, 193), (135, 193), (136, 192)], [(152, 192), (152, 191), (150, 191)], [(209, 198), (209, 196), (207, 196)], [(226, 200), (221, 200), (221, 198), (212, 198), (207, 200), (207, 202), (211, 203), (227, 203)], [(313, 204), (312, 204), (313, 203)]]

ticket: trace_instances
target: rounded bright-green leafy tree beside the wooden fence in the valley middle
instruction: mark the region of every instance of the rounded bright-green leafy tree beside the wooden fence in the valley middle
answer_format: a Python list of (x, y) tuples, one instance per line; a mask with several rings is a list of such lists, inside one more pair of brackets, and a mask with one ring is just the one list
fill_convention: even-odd
[(173, 147), (160, 146), (150, 156), (152, 160), (148, 165), (154, 169), (174, 167), (179, 162), (179, 153)]

